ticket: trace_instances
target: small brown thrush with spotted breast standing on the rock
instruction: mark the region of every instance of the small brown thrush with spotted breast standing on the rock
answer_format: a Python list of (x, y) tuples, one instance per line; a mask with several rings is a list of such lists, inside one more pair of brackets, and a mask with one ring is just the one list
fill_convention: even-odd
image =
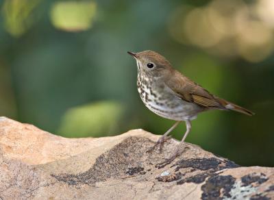
[(137, 87), (142, 101), (147, 108), (164, 118), (176, 123), (158, 140), (151, 151), (162, 144), (166, 136), (181, 121), (186, 122), (186, 133), (178, 145), (175, 153), (166, 162), (171, 162), (179, 154), (186, 136), (191, 129), (193, 119), (199, 112), (206, 110), (234, 110), (252, 116), (254, 113), (234, 103), (210, 94), (179, 71), (176, 71), (164, 56), (154, 51), (139, 53), (127, 52), (132, 55), (138, 67)]

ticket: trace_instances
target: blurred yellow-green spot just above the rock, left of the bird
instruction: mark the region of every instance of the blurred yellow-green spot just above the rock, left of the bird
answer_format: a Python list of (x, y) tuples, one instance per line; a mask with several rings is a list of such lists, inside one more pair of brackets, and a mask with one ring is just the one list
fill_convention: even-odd
[(116, 101), (99, 101), (67, 110), (59, 133), (65, 137), (109, 136), (115, 132), (123, 115), (123, 105)]

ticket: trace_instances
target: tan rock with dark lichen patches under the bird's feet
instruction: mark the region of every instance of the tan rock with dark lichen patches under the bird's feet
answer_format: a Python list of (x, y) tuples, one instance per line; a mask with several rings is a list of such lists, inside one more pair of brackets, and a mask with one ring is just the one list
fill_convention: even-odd
[(0, 199), (274, 199), (274, 168), (241, 167), (196, 145), (166, 166), (142, 129), (62, 138), (0, 118)]

